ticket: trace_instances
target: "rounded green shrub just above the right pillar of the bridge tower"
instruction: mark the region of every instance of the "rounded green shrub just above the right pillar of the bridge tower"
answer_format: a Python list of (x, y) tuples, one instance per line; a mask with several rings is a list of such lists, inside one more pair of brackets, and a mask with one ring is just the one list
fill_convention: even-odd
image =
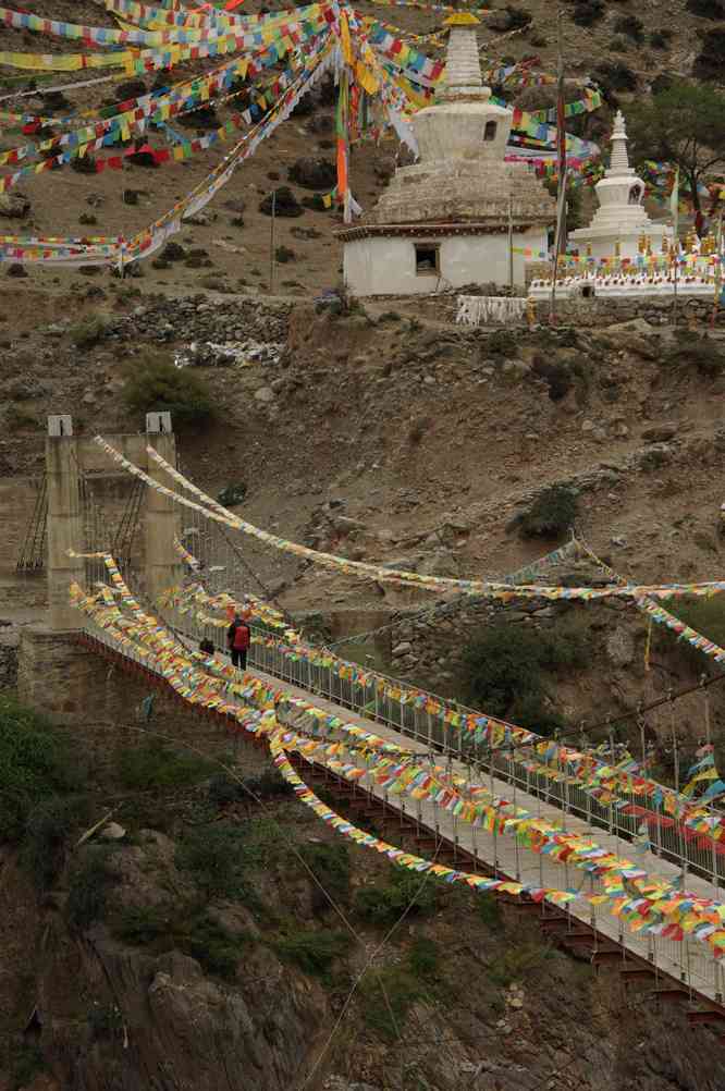
[(189, 368), (174, 368), (166, 360), (148, 358), (134, 365), (123, 387), (123, 399), (132, 412), (170, 412), (174, 425), (205, 424), (214, 416), (207, 384)]

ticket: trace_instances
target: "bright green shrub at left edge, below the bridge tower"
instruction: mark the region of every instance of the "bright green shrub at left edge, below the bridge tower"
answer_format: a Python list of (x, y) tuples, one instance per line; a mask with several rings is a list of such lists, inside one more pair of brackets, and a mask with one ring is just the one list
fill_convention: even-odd
[(41, 800), (83, 786), (77, 754), (44, 717), (0, 696), (0, 842), (19, 840)]

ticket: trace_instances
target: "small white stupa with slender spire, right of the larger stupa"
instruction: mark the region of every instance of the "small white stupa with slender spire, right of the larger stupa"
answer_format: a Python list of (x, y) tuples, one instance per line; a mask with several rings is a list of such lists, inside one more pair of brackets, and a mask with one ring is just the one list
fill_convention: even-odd
[(637, 257), (642, 238), (649, 240), (652, 253), (662, 252), (663, 239), (672, 242), (672, 227), (653, 223), (644, 209), (644, 182), (629, 166), (621, 110), (614, 119), (609, 168), (594, 188), (600, 207), (592, 223), (569, 235), (570, 243), (579, 248), (580, 255)]

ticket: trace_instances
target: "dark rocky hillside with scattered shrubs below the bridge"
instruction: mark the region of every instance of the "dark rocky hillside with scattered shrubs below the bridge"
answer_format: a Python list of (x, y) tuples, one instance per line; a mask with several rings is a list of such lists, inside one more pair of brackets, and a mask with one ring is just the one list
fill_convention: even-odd
[[(87, 717), (56, 731), (33, 807), (2, 812), (2, 1091), (720, 1087), (720, 1038), (651, 985), (348, 849), (258, 759), (238, 752), (240, 782), (155, 738), (158, 711), (147, 740), (107, 721), (111, 751)], [(71, 770), (86, 732), (102, 763)]]

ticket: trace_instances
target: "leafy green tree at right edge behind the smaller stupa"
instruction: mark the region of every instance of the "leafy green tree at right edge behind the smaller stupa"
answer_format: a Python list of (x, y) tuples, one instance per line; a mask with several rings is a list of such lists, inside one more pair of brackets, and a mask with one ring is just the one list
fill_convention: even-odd
[(641, 103), (627, 120), (635, 158), (678, 166), (700, 212), (698, 183), (725, 165), (725, 95), (713, 87), (673, 83)]

